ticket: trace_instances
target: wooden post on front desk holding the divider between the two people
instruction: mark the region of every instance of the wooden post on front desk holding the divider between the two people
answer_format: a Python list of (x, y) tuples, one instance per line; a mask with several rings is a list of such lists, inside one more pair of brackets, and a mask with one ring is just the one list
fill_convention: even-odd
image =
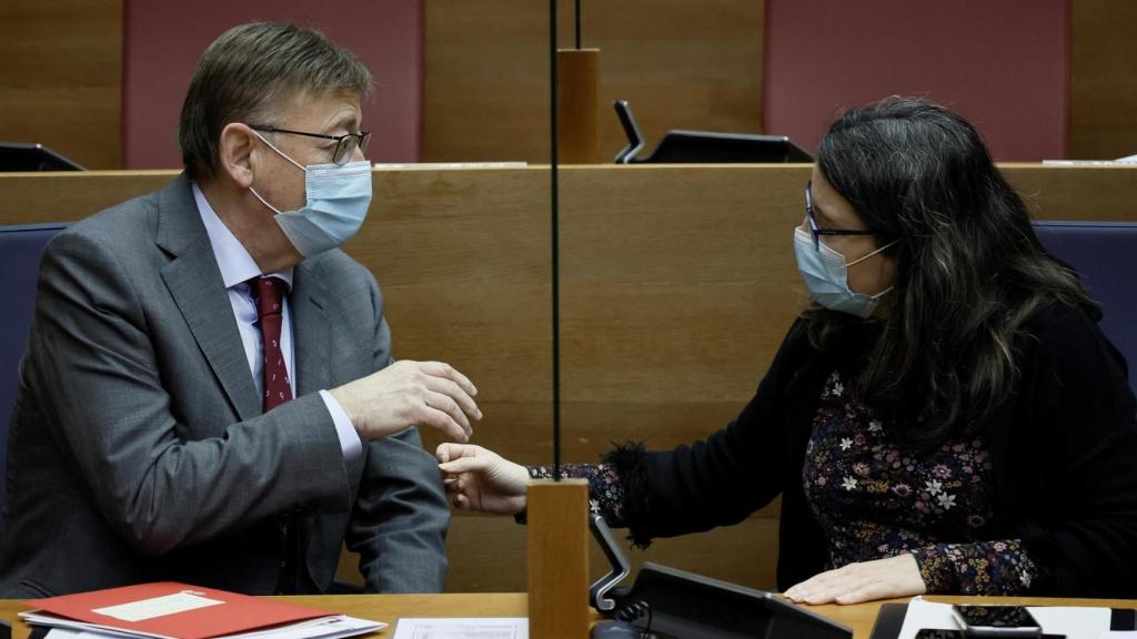
[(588, 608), (588, 481), (534, 480), (529, 517), (529, 637), (584, 639)]

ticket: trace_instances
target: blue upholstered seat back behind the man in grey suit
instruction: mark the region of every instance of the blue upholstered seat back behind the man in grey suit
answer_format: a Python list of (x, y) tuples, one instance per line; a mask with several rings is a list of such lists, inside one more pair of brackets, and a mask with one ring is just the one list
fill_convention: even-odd
[(35, 309), (35, 279), (48, 240), (66, 224), (0, 226), (0, 506), (7, 479), (8, 421), (19, 385), (19, 359)]

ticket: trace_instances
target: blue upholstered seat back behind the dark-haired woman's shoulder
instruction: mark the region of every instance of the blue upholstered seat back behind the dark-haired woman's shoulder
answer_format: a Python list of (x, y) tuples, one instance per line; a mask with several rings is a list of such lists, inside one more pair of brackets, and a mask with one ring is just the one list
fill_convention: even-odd
[(1102, 331), (1126, 356), (1129, 387), (1137, 391), (1137, 224), (1036, 222), (1035, 232), (1102, 305)]

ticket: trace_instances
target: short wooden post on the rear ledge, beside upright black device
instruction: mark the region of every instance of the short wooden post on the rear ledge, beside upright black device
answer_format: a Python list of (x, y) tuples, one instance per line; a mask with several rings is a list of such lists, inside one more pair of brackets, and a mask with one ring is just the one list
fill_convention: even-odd
[(557, 50), (557, 161), (600, 164), (599, 49)]

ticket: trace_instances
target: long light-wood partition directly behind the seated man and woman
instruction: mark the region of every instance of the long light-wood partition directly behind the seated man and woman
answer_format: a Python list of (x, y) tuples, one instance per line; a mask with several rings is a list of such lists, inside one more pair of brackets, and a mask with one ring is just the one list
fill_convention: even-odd
[[(1137, 167), (1004, 165), (1038, 217), (1137, 221)], [(562, 182), (566, 460), (613, 441), (669, 448), (752, 397), (805, 292), (790, 233), (807, 165), (571, 167)], [(0, 224), (77, 219), (169, 172), (0, 175)], [(389, 171), (346, 248), (372, 269), (401, 358), (448, 360), (485, 414), (475, 441), (551, 458), (548, 171)], [(428, 446), (439, 441), (426, 434)], [(778, 506), (730, 529), (633, 550), (756, 588), (774, 586)], [(459, 514), (451, 591), (522, 590), (524, 529)], [(592, 557), (599, 576), (603, 559)], [(351, 578), (352, 558), (341, 574)]]

